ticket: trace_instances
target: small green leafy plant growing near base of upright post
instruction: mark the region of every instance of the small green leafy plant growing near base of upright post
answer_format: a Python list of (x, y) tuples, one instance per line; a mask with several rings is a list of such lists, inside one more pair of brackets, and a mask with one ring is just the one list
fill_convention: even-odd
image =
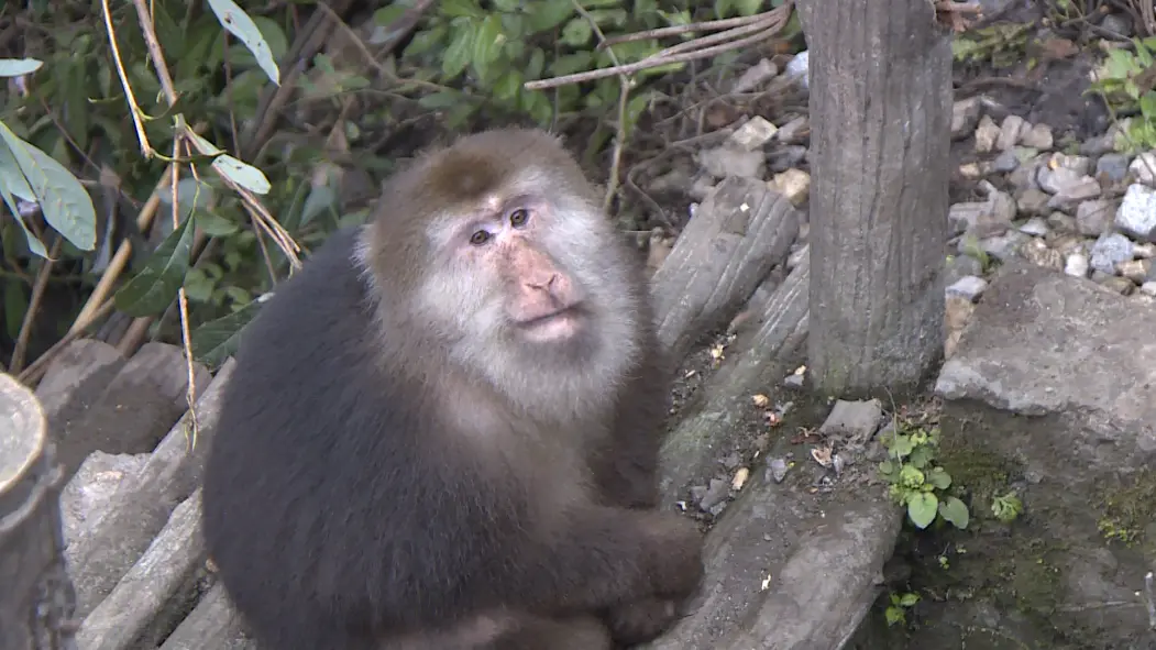
[(890, 483), (891, 498), (907, 508), (907, 518), (919, 529), (926, 529), (936, 516), (966, 529), (968, 507), (946, 494), (951, 477), (935, 464), (939, 437), (939, 428), (928, 430), (897, 422), (884, 436), (888, 459), (880, 463), (879, 472)]

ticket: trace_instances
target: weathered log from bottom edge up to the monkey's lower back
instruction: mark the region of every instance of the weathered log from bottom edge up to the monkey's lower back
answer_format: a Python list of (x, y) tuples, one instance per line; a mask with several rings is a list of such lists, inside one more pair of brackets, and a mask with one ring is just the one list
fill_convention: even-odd
[[(177, 507), (161, 534), (116, 589), (84, 619), (84, 650), (156, 648), (197, 599), (203, 574), (200, 488)], [(207, 645), (201, 645), (208, 648)]]

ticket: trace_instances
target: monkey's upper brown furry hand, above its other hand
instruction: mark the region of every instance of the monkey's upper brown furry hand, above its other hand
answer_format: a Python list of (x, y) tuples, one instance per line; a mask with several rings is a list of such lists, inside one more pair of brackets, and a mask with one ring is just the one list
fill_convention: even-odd
[(647, 519), (654, 593), (683, 600), (703, 578), (703, 533), (690, 519), (669, 512), (650, 511)]

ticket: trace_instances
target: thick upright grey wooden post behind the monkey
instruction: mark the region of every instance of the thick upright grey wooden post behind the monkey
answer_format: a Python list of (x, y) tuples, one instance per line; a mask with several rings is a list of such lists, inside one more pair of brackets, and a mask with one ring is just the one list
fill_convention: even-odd
[(929, 0), (799, 0), (816, 390), (916, 389), (943, 349), (951, 49)]

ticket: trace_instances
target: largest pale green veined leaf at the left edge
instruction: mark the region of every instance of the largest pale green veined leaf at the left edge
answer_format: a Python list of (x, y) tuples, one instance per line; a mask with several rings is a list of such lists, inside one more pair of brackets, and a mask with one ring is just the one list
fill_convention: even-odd
[(17, 138), (2, 121), (0, 139), (36, 194), (44, 220), (72, 245), (82, 251), (92, 250), (96, 246), (96, 209), (80, 180), (47, 154)]

